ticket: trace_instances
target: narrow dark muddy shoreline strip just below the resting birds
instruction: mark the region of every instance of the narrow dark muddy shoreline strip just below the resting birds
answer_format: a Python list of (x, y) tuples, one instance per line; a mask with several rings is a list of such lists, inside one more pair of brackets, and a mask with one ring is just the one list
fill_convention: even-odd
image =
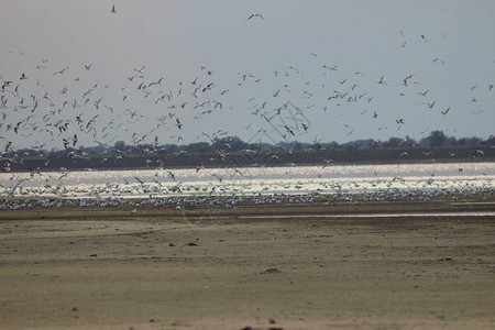
[[(294, 197), (294, 196), (292, 196)], [(304, 215), (317, 215), (329, 217), (334, 216), (352, 216), (352, 215), (397, 215), (397, 213), (410, 213), (410, 215), (421, 215), (426, 216), (429, 213), (442, 212), (493, 212), (495, 207), (495, 194), (494, 191), (483, 195), (485, 200), (480, 200), (481, 195), (474, 195), (465, 197), (463, 199), (452, 199), (452, 196), (440, 196), (433, 197), (430, 200), (408, 200), (406, 198), (397, 200), (364, 200), (362, 195), (353, 196), (352, 200), (346, 200), (345, 198), (334, 199), (331, 202), (328, 201), (315, 201), (315, 202), (280, 202), (280, 204), (255, 204), (251, 200), (245, 200), (243, 202), (237, 204), (231, 208), (226, 208), (221, 204), (208, 205), (208, 204), (195, 204), (195, 205), (182, 205), (180, 208), (177, 207), (176, 202), (163, 204), (163, 205), (152, 205), (144, 204), (141, 205), (139, 201), (147, 200), (148, 197), (143, 197), (139, 199), (129, 199), (133, 204), (121, 204), (121, 205), (110, 205), (110, 206), (61, 206), (61, 207), (33, 207), (22, 209), (0, 209), (0, 220), (4, 220), (8, 217), (12, 219), (22, 219), (31, 217), (30, 215), (41, 215), (47, 213), (52, 216), (61, 215), (65, 216), (65, 212), (88, 212), (96, 215), (97, 217), (182, 217), (182, 216), (194, 216), (201, 215), (202, 212), (208, 212), (218, 217), (242, 217), (252, 216), (256, 217), (258, 213), (268, 216), (280, 216), (284, 215), (288, 217), (304, 216)], [(187, 200), (190, 196), (173, 197), (173, 200)], [(227, 199), (229, 197), (222, 197)], [(12, 201), (26, 201), (32, 200), (30, 198), (12, 198)], [(54, 198), (54, 201), (63, 200), (59, 198)], [(85, 200), (85, 199), (82, 199)]]

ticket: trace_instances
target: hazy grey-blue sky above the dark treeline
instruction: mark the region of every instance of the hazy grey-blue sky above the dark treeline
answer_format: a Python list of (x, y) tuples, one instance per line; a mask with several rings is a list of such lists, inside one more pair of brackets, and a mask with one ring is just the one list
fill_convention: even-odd
[(491, 0), (0, 0), (0, 146), (487, 138), (494, 18)]

